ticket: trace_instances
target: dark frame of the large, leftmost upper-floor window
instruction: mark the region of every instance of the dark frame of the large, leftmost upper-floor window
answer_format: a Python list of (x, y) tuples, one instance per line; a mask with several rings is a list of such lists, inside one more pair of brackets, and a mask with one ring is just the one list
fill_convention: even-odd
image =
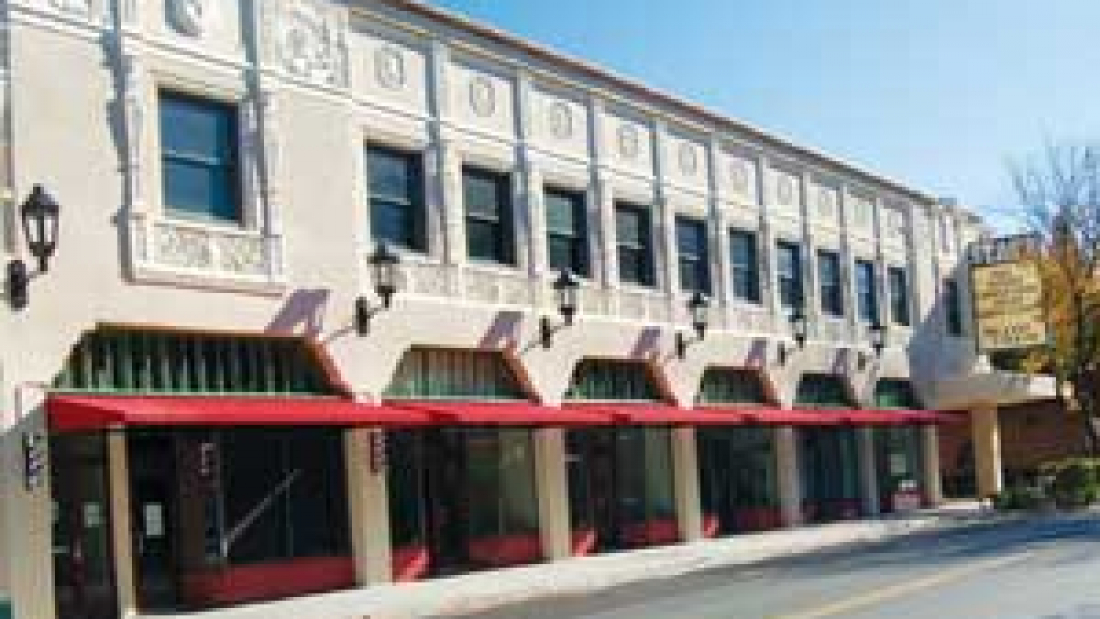
[[(226, 145), (228, 147), (228, 162), (221, 163), (215, 157), (202, 157), (196, 153), (169, 152), (168, 140), (165, 135), (164, 111), (165, 103), (176, 103), (190, 106), (193, 109), (204, 109), (207, 112), (221, 112), (228, 119), (226, 129)], [(170, 86), (158, 87), (156, 90), (156, 113), (157, 113), (157, 161), (160, 165), (160, 191), (162, 214), (172, 220), (197, 222), (213, 225), (235, 225), (244, 226), (248, 221), (244, 205), (244, 176), (243, 176), (243, 145), (241, 143), (241, 109), (240, 102), (226, 98), (210, 97), (201, 93), (189, 92), (184, 89)], [(187, 166), (200, 166), (207, 170), (223, 169), (227, 189), (229, 191), (229, 203), (232, 205), (232, 214), (221, 217), (216, 214), (215, 209), (207, 205), (202, 211), (190, 210), (185, 207), (176, 207), (170, 203), (168, 197), (168, 168), (169, 163), (177, 162)]]

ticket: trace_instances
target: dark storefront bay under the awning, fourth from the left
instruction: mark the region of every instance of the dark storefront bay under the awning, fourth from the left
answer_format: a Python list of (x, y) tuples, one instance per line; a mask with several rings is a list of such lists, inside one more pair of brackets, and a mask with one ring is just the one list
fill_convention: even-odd
[(762, 531), (782, 524), (773, 434), (770, 428), (696, 431), (704, 534)]

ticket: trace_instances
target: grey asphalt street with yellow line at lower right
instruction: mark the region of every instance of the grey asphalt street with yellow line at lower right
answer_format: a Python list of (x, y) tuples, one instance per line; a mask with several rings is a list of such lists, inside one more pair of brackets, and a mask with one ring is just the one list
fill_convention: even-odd
[(925, 533), (480, 619), (1100, 619), (1100, 516)]

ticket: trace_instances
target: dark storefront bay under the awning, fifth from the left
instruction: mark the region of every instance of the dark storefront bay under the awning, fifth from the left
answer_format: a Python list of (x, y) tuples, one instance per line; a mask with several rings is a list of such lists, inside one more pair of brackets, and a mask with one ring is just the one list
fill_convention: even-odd
[(855, 428), (803, 428), (799, 432), (806, 522), (859, 518), (864, 500)]

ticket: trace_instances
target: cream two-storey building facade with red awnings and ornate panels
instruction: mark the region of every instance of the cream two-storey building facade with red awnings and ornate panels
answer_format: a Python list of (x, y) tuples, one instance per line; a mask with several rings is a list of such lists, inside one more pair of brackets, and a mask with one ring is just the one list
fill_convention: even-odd
[(2, 7), (0, 617), (939, 500), (972, 214), (419, 2)]

